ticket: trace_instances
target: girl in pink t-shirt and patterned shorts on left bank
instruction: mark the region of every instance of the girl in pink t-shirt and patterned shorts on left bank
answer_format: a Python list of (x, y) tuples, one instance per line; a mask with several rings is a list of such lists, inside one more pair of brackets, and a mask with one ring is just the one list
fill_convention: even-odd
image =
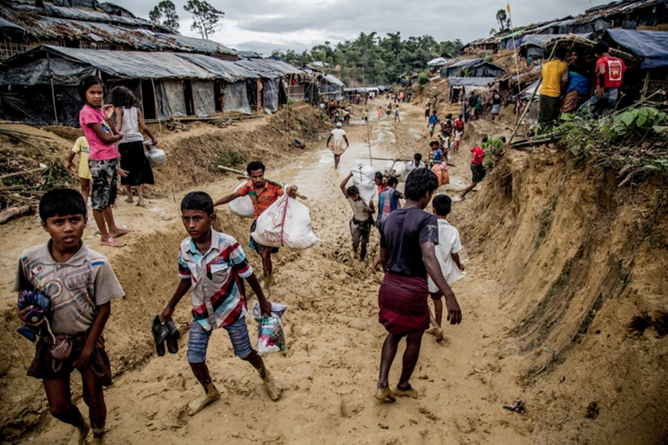
[(102, 234), (100, 244), (123, 246), (114, 238), (131, 232), (117, 227), (111, 206), (116, 202), (118, 175), (125, 175), (118, 168), (119, 154), (116, 142), (121, 135), (116, 131), (111, 116), (113, 105), (102, 105), (104, 90), (102, 81), (93, 75), (84, 77), (79, 84), (79, 94), (86, 103), (79, 112), (79, 124), (91, 146), (88, 168), (91, 170), (91, 207), (95, 223)]

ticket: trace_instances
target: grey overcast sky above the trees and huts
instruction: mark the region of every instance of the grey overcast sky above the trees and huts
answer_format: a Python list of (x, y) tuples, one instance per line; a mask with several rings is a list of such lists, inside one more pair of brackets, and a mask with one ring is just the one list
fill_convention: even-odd
[[(148, 18), (159, 0), (111, 0)], [(180, 31), (191, 31), (186, 0), (173, 0), (180, 16)], [(514, 0), (510, 1), (514, 26), (581, 14), (608, 0)], [(470, 42), (499, 28), (497, 11), (502, 0), (246, 0), (209, 1), (225, 12), (223, 27), (209, 36), (228, 47), (251, 49), (270, 55), (273, 49), (302, 52), (326, 40), (335, 44), (355, 40), (360, 32), (377, 31), (381, 36), (400, 31), (403, 38), (430, 35), (438, 41)]]

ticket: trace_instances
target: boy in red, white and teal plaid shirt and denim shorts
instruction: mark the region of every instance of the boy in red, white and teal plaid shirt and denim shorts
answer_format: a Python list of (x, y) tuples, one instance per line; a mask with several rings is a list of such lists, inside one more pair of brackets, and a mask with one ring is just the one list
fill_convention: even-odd
[(206, 348), (214, 329), (224, 328), (230, 335), (235, 355), (250, 362), (260, 374), (272, 400), (281, 398), (282, 389), (265, 368), (252, 346), (246, 325), (246, 301), (242, 279), (246, 279), (260, 302), (262, 314), (270, 316), (272, 306), (262, 292), (246, 254), (235, 238), (219, 233), (215, 223), (213, 199), (204, 192), (191, 192), (181, 201), (181, 218), (189, 238), (178, 251), (178, 276), (181, 279), (174, 296), (160, 314), (165, 325), (174, 314), (182, 296), (193, 287), (193, 324), (188, 337), (188, 363), (204, 387), (204, 397), (189, 405), (189, 414), (197, 414), (220, 393), (213, 385), (206, 366)]

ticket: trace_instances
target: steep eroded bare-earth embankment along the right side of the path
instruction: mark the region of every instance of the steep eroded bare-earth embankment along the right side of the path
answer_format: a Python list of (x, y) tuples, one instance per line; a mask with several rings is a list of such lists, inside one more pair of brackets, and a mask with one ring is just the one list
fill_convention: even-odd
[(534, 443), (668, 439), (668, 188), (507, 149), (453, 223), (499, 285)]

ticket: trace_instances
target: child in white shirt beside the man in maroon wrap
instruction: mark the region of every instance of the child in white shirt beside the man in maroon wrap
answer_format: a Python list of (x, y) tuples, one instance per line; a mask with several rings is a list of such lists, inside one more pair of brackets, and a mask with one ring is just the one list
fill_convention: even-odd
[[(446, 194), (438, 194), (434, 196), (431, 201), (432, 213), (436, 215), (438, 221), (438, 245), (436, 246), (436, 259), (443, 272), (445, 281), (452, 285), (458, 279), (464, 277), (464, 266), (460, 261), (459, 251), (462, 250), (462, 241), (460, 240), (460, 232), (453, 227), (446, 216), (450, 214), (452, 207), (452, 199)], [(434, 320), (436, 326), (429, 329), (427, 333), (436, 335), (436, 340), (440, 341), (443, 338), (443, 329), (441, 329), (441, 321), (443, 317), (443, 302), (441, 297), (443, 294), (438, 290), (436, 283), (429, 277), (429, 295), (433, 300), (434, 312), (436, 312)]]

